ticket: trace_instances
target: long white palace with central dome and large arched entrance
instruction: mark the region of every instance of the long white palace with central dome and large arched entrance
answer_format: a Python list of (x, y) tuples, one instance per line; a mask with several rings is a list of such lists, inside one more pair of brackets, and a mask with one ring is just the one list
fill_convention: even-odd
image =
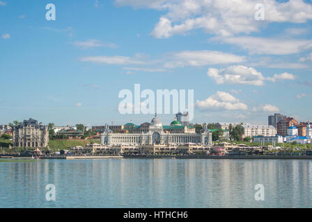
[[(207, 128), (201, 130), (201, 133), (195, 133), (195, 129), (182, 126), (177, 120), (172, 121), (170, 126), (163, 126), (157, 114), (150, 124), (143, 123), (142, 125), (145, 128), (137, 130), (140, 133), (113, 133), (107, 128), (101, 134), (101, 144), (104, 146), (178, 146), (190, 143), (208, 146), (212, 144), (212, 133)], [(129, 126), (132, 132), (135, 132), (136, 126), (133, 123), (127, 123), (125, 126)]]

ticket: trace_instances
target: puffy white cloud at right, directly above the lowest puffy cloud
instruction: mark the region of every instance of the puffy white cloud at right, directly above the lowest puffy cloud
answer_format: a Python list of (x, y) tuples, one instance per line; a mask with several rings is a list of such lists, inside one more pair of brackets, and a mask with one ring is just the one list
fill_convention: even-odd
[(217, 84), (263, 85), (263, 75), (251, 67), (242, 65), (230, 66), (226, 69), (208, 69), (208, 76)]

